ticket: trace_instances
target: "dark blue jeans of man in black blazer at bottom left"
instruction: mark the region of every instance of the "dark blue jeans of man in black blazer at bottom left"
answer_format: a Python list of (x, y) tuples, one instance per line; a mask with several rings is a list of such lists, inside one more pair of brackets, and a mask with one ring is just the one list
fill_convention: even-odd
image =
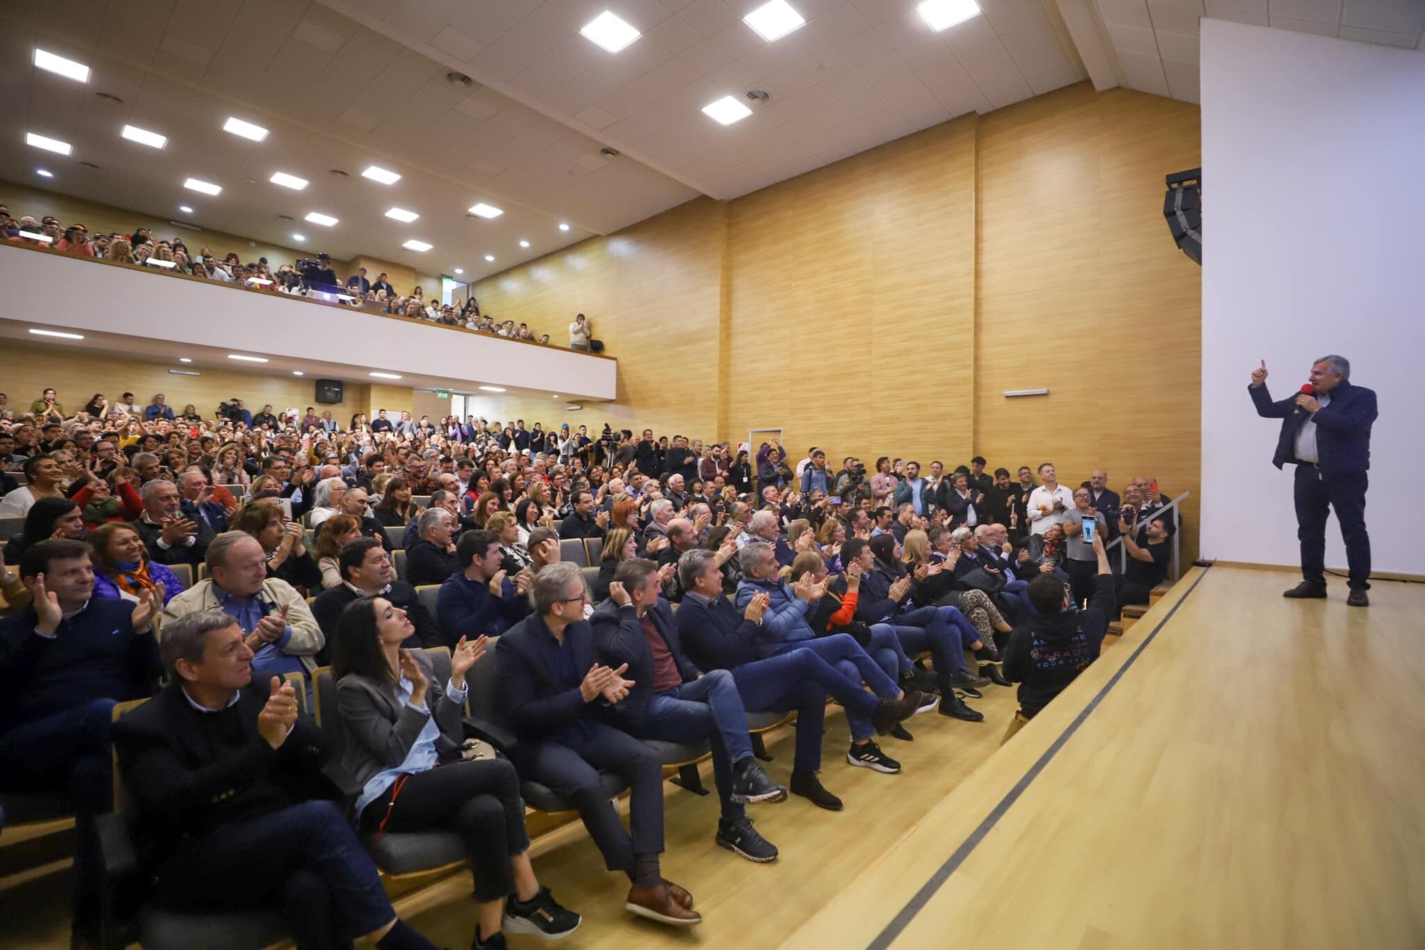
[(278, 904), (304, 950), (342, 946), (396, 916), (370, 855), (326, 800), (185, 839), (158, 869), (154, 897), (184, 910)]

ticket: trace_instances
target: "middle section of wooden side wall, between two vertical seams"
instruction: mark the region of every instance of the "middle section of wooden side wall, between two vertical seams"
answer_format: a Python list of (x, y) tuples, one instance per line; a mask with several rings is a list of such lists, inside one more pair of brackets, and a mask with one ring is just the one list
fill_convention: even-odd
[(731, 202), (721, 434), (929, 464), (969, 447), (976, 117)]

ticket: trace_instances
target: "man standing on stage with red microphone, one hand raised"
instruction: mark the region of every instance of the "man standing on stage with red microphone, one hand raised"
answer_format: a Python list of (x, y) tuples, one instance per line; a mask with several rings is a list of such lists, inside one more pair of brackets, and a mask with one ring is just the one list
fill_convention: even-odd
[(1297, 538), (1301, 541), (1302, 581), (1282, 597), (1327, 595), (1327, 508), (1335, 508), (1345, 541), (1351, 594), (1345, 602), (1367, 607), (1371, 577), (1371, 538), (1365, 533), (1367, 470), (1371, 467), (1371, 423), (1375, 390), (1351, 385), (1344, 356), (1322, 356), (1311, 365), (1311, 382), (1291, 399), (1271, 402), (1267, 360), (1251, 372), (1247, 392), (1264, 419), (1281, 419), (1281, 437), (1271, 463), (1297, 466)]

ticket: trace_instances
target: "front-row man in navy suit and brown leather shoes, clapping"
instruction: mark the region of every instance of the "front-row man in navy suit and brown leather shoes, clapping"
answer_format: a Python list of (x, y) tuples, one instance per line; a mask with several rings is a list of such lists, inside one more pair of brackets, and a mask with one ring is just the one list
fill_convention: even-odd
[[(462, 546), (479, 534), (492, 548), (493, 536), (483, 531)], [(663, 877), (663, 766), (651, 748), (617, 726), (617, 705), (633, 684), (623, 677), (627, 668), (597, 661), (579, 567), (550, 564), (534, 577), (533, 595), (534, 612), (494, 648), (499, 705), (520, 738), (514, 768), (573, 802), (604, 866), (628, 876), (627, 910), (674, 926), (701, 923), (693, 894)], [(630, 786), (628, 830), (604, 790), (604, 771)]]

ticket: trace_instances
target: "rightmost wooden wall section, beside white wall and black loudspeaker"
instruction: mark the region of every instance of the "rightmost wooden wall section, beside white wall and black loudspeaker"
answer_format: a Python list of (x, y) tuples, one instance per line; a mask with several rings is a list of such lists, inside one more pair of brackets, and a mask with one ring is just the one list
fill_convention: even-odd
[[(975, 450), (1190, 490), (1200, 479), (1201, 269), (1163, 222), (1197, 167), (1196, 105), (1087, 84), (980, 118)], [(1006, 389), (1047, 397), (1006, 399)]]

